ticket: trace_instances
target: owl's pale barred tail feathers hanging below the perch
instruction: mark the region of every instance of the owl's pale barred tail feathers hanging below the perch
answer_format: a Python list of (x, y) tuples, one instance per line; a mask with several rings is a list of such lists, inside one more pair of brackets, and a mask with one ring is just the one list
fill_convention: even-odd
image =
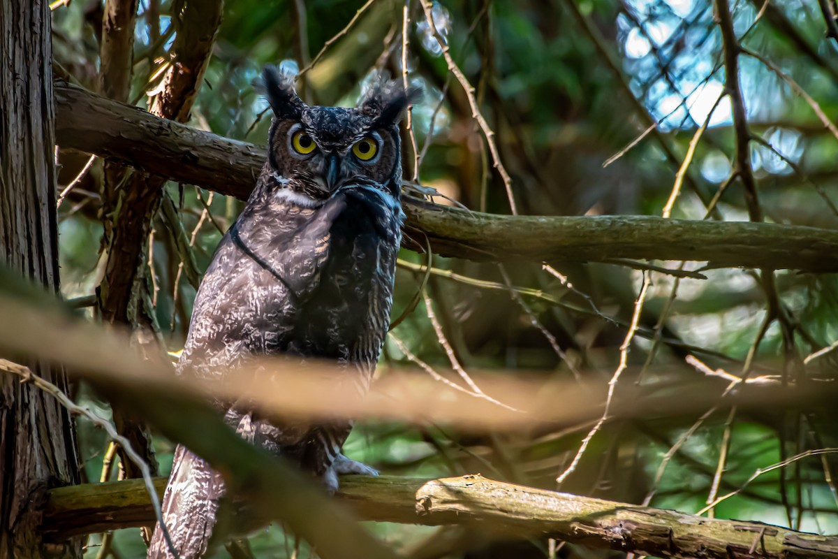
[[(178, 445), (163, 496), (163, 521), (180, 559), (204, 556), (224, 493), (221, 474)], [(147, 559), (174, 559), (159, 523), (154, 528)]]

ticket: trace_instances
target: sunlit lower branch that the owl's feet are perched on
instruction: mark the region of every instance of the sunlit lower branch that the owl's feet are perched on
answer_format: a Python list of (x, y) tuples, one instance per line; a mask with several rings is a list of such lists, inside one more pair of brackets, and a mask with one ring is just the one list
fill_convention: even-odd
[[(166, 480), (158, 479), (163, 493)], [(548, 536), (650, 556), (707, 559), (838, 557), (838, 537), (758, 522), (711, 520), (506, 484), (480, 475), (447, 479), (344, 477), (339, 499), (358, 518), (404, 524), (477, 525), (504, 536)], [(60, 538), (153, 522), (140, 480), (52, 489), (44, 533)]]

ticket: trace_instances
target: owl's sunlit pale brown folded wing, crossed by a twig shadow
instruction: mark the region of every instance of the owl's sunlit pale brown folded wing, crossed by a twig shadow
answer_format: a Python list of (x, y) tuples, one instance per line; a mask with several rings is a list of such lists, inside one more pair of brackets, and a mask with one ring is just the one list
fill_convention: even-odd
[(321, 281), (333, 245), (330, 229), (345, 208), (337, 195), (299, 222), (242, 214), (201, 282), (178, 370), (223, 375), (247, 355), (283, 351)]

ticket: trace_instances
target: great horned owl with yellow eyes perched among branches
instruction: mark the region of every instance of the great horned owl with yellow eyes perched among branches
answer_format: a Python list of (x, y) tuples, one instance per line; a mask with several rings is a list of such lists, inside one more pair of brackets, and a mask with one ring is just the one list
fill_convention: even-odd
[[(215, 377), (252, 355), (318, 357), (365, 392), (390, 318), (404, 216), (397, 125), (414, 92), (380, 80), (357, 108), (308, 106), (292, 77), (268, 67), (263, 78), (268, 160), (199, 287), (178, 370)], [(300, 428), (224, 411), (242, 436), (331, 492), (338, 474), (375, 474), (341, 453), (351, 422)], [(220, 474), (178, 446), (163, 517), (184, 559), (206, 551), (224, 494)], [(170, 556), (159, 526), (148, 556)]]

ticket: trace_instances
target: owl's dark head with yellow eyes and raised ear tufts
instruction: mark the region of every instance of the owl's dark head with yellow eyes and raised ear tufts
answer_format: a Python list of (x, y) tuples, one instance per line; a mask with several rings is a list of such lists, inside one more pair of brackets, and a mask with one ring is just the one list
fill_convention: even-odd
[(416, 91), (378, 80), (354, 109), (308, 106), (294, 91), (293, 77), (272, 66), (264, 74), (274, 119), (268, 137), (269, 164), (279, 189), (297, 203), (327, 199), (344, 185), (373, 182), (398, 196), (401, 148), (398, 123)]

